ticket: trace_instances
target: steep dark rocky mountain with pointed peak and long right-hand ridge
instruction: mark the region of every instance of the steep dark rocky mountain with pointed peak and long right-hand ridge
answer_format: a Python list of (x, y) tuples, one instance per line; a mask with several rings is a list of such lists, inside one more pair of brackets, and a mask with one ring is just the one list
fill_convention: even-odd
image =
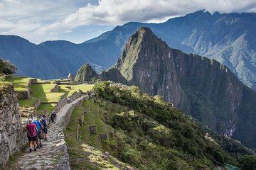
[(210, 129), (256, 147), (256, 92), (219, 62), (170, 48), (144, 27), (128, 40), (114, 70), (98, 77), (115, 81), (121, 74), (127, 84), (163, 96)]

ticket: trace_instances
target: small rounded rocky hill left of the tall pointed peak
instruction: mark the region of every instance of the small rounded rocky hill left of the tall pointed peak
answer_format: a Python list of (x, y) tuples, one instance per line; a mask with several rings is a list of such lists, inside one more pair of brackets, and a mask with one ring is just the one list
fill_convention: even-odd
[(83, 84), (92, 81), (93, 78), (97, 79), (97, 73), (92, 69), (89, 64), (84, 64), (78, 70), (78, 73), (75, 76), (75, 81)]

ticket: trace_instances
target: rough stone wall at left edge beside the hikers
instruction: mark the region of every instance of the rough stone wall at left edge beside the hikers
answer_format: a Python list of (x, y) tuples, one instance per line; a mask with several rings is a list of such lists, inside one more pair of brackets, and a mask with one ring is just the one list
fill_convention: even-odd
[(1, 86), (0, 89), (0, 166), (9, 157), (21, 150), (26, 143), (26, 135), (21, 125), (18, 98), (14, 86)]

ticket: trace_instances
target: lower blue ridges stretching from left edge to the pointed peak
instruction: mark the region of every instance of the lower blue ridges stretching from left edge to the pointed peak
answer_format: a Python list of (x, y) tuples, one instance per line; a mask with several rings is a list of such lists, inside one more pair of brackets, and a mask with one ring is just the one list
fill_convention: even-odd
[(14, 35), (0, 35), (0, 56), (16, 64), (18, 75), (41, 79), (58, 79), (67, 77), (69, 73), (75, 74), (85, 62), (97, 71), (111, 65), (111, 60), (91, 45), (77, 45), (63, 40), (35, 45)]

